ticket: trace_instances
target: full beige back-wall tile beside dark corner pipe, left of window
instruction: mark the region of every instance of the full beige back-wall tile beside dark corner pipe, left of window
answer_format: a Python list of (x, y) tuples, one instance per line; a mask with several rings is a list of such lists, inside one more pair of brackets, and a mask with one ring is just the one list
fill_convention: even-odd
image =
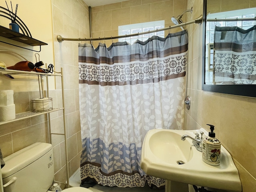
[(94, 31), (111, 30), (111, 10), (94, 13)]

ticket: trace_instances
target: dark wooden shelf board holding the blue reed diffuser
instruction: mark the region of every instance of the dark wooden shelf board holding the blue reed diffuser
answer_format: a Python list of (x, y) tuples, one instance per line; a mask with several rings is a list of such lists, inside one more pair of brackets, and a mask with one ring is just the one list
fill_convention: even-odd
[(24, 44), (31, 45), (31, 46), (48, 45), (47, 43), (36, 40), (32, 37), (28, 37), (24, 34), (15, 32), (15, 31), (10, 30), (8, 28), (5, 28), (3, 26), (0, 26), (0, 36), (8, 38), (8, 39), (15, 40), (15, 41), (18, 41), (18, 42), (22, 42)]

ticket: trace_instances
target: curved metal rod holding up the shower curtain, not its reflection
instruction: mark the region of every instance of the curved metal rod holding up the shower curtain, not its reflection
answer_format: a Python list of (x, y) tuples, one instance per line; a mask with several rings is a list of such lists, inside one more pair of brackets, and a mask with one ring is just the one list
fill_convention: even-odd
[(193, 24), (193, 23), (197, 23), (200, 25), (202, 23), (202, 20), (203, 20), (203, 16), (200, 15), (200, 17), (196, 18), (195, 20), (188, 21), (188, 22), (185, 22), (182, 24), (169, 26), (169, 27), (161, 28), (161, 29), (156, 29), (156, 30), (152, 30), (152, 31), (147, 31), (147, 32), (136, 33), (136, 34), (128, 34), (128, 35), (126, 34), (126, 35), (103, 37), (103, 38), (101, 38), (101, 37), (99, 37), (99, 38), (64, 38), (64, 37), (58, 35), (57, 40), (58, 40), (58, 42), (61, 43), (62, 41), (99, 41), (99, 40), (126, 38), (126, 37), (132, 37), (132, 36), (138, 36), (138, 35), (143, 35), (143, 34), (148, 34), (148, 33), (164, 31), (164, 30), (170, 30), (172, 28), (181, 27), (181, 26), (185, 26), (185, 25), (189, 25), (189, 24)]

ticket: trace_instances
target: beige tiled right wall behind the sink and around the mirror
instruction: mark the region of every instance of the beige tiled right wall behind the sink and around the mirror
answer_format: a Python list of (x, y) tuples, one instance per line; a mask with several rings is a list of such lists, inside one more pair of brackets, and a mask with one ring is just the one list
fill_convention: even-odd
[[(224, 5), (224, 1), (209, 1)], [(255, 7), (255, 1), (229, 1), (232, 6)], [(191, 19), (202, 14), (203, 0), (188, 0), (186, 8), (193, 6)], [(227, 11), (232, 6), (223, 6), (216, 10)], [(194, 14), (194, 15), (193, 15)], [(244, 192), (256, 189), (256, 98), (246, 98), (202, 91), (202, 26), (190, 25), (188, 59), (188, 95), (191, 97), (190, 110), (185, 109), (184, 129), (210, 129), (206, 124), (213, 124), (216, 137), (230, 152), (236, 164)], [(255, 90), (252, 90), (255, 91)]]

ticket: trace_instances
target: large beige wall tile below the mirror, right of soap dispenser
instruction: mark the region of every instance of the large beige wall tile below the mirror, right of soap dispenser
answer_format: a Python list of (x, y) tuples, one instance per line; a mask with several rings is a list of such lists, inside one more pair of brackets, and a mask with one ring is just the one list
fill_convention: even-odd
[[(256, 99), (221, 96), (220, 141), (252, 176), (256, 177)], [(243, 155), (241, 155), (241, 152)]]

